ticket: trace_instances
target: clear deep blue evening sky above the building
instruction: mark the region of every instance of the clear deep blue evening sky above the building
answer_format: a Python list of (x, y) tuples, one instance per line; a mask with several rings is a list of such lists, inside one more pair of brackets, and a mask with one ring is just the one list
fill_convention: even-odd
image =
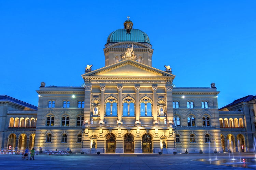
[(256, 95), (256, 1), (0, 1), (0, 94), (38, 105), (40, 83), (80, 86), (87, 64), (104, 67), (108, 35), (150, 37), (153, 67), (177, 87), (216, 83), (219, 108)]

